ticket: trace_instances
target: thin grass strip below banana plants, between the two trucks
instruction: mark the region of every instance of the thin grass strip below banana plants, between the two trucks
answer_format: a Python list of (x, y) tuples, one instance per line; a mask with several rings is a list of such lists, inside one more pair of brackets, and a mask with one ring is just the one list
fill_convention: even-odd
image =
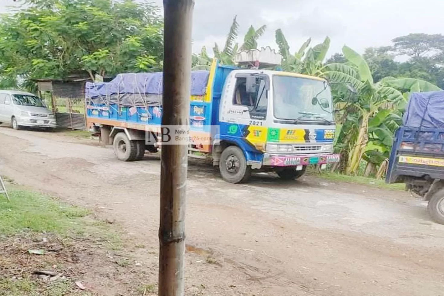
[(380, 189), (392, 189), (392, 190), (405, 189), (404, 183), (387, 184), (385, 183), (385, 180), (377, 180), (375, 178), (367, 178), (362, 176), (349, 176), (349, 175), (331, 173), (326, 171), (323, 171), (321, 173), (310, 172), (309, 174), (329, 181), (363, 184), (363, 185), (374, 186)]

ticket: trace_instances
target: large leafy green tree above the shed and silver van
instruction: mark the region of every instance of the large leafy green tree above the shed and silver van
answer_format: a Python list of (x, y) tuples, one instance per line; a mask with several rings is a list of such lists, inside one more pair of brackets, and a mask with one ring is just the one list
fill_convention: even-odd
[[(0, 19), (0, 83), (63, 78), (86, 71), (161, 69), (163, 20), (159, 9), (134, 0), (26, 0)], [(15, 78), (12, 78), (15, 77)]]

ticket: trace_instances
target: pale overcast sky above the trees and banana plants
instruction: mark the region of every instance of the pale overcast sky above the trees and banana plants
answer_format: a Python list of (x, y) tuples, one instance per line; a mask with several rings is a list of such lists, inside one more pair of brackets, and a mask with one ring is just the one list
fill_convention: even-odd
[[(0, 0), (0, 12), (8, 5), (13, 0)], [(291, 51), (309, 37), (320, 43), (328, 35), (330, 56), (344, 44), (362, 52), (409, 33), (444, 33), (443, 12), (444, 0), (195, 0), (193, 51), (214, 42), (222, 47), (235, 15), (241, 37), (250, 25), (267, 25), (259, 46), (277, 49), (274, 32), (281, 28)]]

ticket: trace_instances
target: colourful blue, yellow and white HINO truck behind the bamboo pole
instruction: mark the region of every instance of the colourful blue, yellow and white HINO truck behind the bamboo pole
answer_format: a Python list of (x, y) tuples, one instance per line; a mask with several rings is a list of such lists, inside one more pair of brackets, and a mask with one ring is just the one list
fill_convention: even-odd
[[(110, 139), (120, 160), (139, 160), (162, 146), (162, 107), (168, 103), (162, 76), (119, 74), (109, 83), (87, 83), (87, 124)], [(209, 71), (192, 71), (191, 81), (188, 155), (212, 158), (227, 182), (246, 182), (254, 170), (296, 179), (308, 165), (339, 162), (325, 79), (214, 59)]]

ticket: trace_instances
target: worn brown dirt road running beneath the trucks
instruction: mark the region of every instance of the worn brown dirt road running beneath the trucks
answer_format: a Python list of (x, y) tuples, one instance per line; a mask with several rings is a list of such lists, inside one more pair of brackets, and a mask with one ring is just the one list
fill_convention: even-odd
[[(120, 162), (91, 143), (2, 127), (0, 172), (115, 219), (147, 245), (136, 255), (155, 280), (159, 157)], [(195, 162), (187, 193), (187, 295), (444, 295), (444, 225), (408, 193), (267, 174), (233, 185)]]

